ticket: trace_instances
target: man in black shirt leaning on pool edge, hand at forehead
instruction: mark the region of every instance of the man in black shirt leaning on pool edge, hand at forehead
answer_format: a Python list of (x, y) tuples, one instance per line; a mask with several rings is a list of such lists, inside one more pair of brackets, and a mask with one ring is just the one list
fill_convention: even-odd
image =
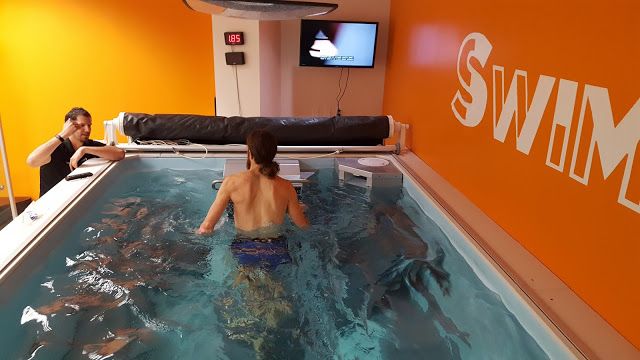
[(27, 164), (40, 167), (40, 196), (87, 159), (124, 158), (124, 150), (93, 141), (89, 139), (89, 135), (91, 114), (83, 108), (73, 108), (65, 116), (62, 131), (29, 154)]

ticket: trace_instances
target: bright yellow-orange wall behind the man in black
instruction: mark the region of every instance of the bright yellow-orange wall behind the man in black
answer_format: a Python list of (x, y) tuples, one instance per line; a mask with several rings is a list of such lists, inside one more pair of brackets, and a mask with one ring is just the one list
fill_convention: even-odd
[[(36, 198), (27, 155), (83, 106), (92, 138), (120, 111), (213, 114), (211, 17), (181, 1), (3, 0), (0, 114), (16, 195)], [(0, 196), (6, 196), (0, 194)]]

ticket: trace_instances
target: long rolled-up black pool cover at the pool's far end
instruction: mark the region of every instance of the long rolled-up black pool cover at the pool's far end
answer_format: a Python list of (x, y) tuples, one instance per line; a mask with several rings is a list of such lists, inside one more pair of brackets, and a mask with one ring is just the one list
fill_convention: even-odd
[(124, 133), (134, 140), (186, 139), (200, 144), (244, 144), (264, 129), (283, 146), (372, 146), (389, 137), (387, 116), (223, 117), (125, 113)]

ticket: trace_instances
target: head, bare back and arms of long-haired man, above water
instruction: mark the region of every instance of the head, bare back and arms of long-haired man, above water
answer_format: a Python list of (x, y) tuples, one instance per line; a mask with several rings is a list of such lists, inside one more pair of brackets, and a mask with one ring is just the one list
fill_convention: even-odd
[(250, 237), (272, 237), (278, 234), (253, 234), (284, 222), (286, 213), (300, 228), (309, 226), (298, 196), (291, 183), (278, 176), (280, 167), (273, 161), (278, 150), (276, 138), (264, 130), (247, 137), (247, 171), (224, 179), (215, 201), (198, 229), (208, 234), (233, 202), (234, 219), (239, 234)]

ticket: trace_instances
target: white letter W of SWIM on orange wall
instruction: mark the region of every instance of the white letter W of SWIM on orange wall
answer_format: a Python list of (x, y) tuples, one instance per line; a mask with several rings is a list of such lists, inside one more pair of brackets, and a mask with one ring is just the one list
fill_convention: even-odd
[[(499, 79), (498, 79), (499, 77)], [(499, 83), (498, 83), (499, 81)], [(511, 122), (515, 119), (516, 128), (516, 148), (518, 151), (529, 154), (531, 145), (538, 133), (542, 114), (549, 102), (551, 90), (556, 79), (546, 75), (540, 75), (538, 85), (533, 93), (531, 106), (529, 106), (529, 90), (527, 81), (527, 72), (517, 70), (514, 72), (509, 86), (509, 92), (505, 98), (504, 93), (504, 67), (493, 66), (493, 137), (494, 139), (504, 142), (511, 126)], [(524, 89), (525, 109), (520, 109), (518, 85), (522, 85)], [(496, 96), (496, 89), (500, 89), (500, 96)], [(497, 118), (498, 109), (497, 101), (500, 100), (502, 110)], [(520, 114), (524, 113), (524, 120), (520, 121)], [(522, 123), (522, 129), (520, 129)]]

